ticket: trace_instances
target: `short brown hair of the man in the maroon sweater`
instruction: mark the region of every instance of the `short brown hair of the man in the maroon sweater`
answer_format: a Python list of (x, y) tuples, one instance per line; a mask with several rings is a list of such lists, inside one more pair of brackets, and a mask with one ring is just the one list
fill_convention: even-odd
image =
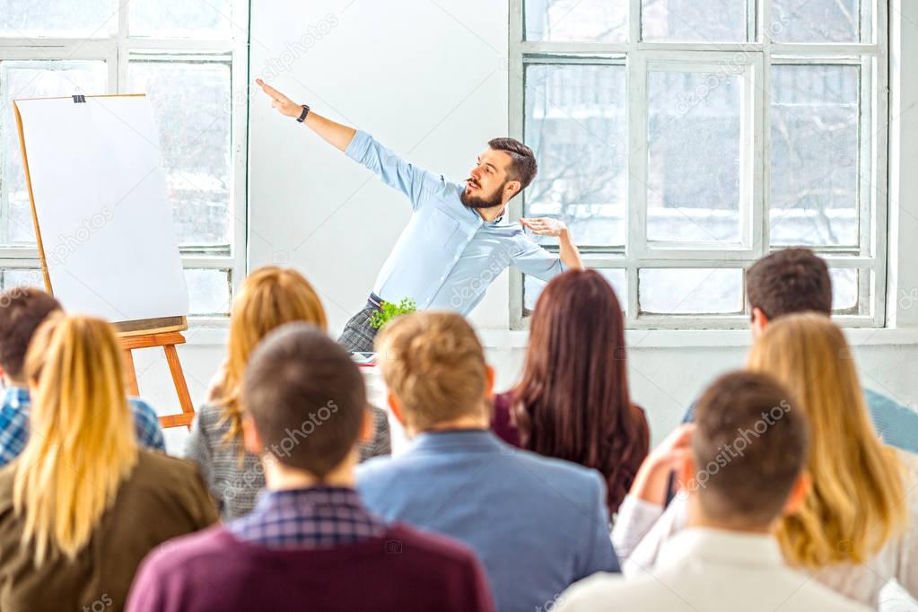
[(288, 323), (252, 351), (241, 403), (265, 452), (323, 478), (357, 444), (366, 411), (364, 378), (347, 351), (319, 328)]

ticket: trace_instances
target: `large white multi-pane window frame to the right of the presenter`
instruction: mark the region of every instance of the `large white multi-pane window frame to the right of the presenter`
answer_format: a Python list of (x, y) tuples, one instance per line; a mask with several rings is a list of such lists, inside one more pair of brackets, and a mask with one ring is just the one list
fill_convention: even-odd
[[(858, 312), (838, 313), (834, 319), (847, 328), (880, 328), (886, 324), (887, 288), (887, 147), (889, 130), (889, 16), (885, 0), (865, 0), (872, 4), (872, 18), (862, 22), (872, 32), (870, 43), (779, 43), (771, 40), (765, 24), (772, 23), (771, 0), (748, 0), (747, 28), (756, 33), (756, 42), (678, 43), (645, 42), (641, 34), (641, 0), (629, 0), (629, 41), (623, 43), (527, 41), (524, 39), (525, 0), (509, 0), (509, 129), (518, 139), (524, 136), (525, 67), (528, 64), (584, 63), (624, 64), (628, 72), (626, 104), (628, 117), (628, 205), (626, 245), (622, 248), (586, 248), (584, 262), (599, 269), (623, 269), (627, 297), (620, 295), (626, 309), (626, 324), (636, 329), (730, 329), (745, 328), (748, 314), (649, 315), (638, 305), (638, 271), (648, 268), (726, 268), (747, 269), (772, 250), (769, 245), (768, 218), (765, 214), (770, 186), (767, 160), (770, 133), (770, 91), (772, 63), (856, 64), (860, 68), (860, 145), (859, 246), (817, 250), (833, 269), (858, 269)], [(704, 64), (739, 64), (746, 77), (742, 96), (744, 112), (753, 120), (743, 122), (742, 148), (748, 151), (741, 164), (741, 199), (747, 198), (748, 212), (742, 225), (743, 245), (736, 249), (679, 248), (676, 245), (648, 244), (646, 236), (647, 180), (647, 91), (648, 68), (667, 67), (699, 70)], [(749, 79), (752, 79), (750, 82)], [(525, 195), (523, 195), (523, 198)], [(510, 204), (513, 219), (522, 216), (524, 199)], [(744, 210), (741, 205), (741, 212)], [(776, 247), (777, 248), (777, 247)], [(549, 247), (551, 249), (551, 247)], [(523, 306), (523, 275), (510, 271), (510, 327), (527, 328), (528, 313)], [(746, 306), (748, 307), (748, 306)]]

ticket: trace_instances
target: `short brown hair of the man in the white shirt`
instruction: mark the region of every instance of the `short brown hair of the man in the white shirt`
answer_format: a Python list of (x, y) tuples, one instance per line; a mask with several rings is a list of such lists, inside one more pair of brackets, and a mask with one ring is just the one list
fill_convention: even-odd
[(777, 518), (809, 451), (809, 427), (787, 388), (760, 373), (718, 378), (696, 408), (695, 488), (707, 517), (737, 527)]

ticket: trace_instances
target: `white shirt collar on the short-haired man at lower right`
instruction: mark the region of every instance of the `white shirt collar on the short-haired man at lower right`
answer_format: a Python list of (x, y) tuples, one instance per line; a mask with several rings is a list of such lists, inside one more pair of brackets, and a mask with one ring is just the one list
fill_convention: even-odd
[(767, 534), (727, 529), (683, 529), (667, 540), (660, 552), (661, 564), (701, 560), (717, 564), (783, 566), (778, 541)]

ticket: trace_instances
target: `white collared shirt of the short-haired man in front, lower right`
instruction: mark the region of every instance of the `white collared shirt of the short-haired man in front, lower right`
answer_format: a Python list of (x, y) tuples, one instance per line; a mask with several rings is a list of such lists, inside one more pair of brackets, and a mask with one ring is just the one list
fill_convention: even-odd
[(652, 573), (597, 573), (567, 589), (555, 610), (599, 612), (867, 612), (784, 564), (767, 535), (683, 529)]

